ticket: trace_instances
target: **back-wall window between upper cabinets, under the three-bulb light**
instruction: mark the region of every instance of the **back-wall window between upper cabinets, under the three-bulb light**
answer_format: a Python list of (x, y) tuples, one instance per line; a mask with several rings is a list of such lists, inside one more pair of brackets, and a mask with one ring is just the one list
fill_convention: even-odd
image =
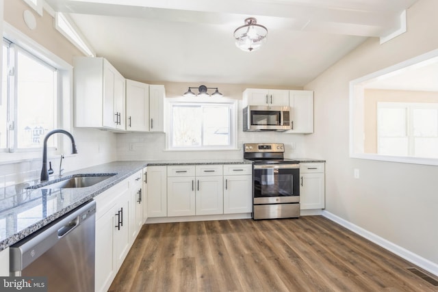
[(236, 142), (236, 103), (228, 99), (169, 103), (169, 150), (230, 150)]

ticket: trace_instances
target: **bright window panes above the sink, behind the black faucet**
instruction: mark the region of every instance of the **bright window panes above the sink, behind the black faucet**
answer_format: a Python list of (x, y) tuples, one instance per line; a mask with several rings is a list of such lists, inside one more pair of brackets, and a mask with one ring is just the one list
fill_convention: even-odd
[(2, 79), (0, 149), (39, 151), (45, 134), (59, 127), (57, 69), (3, 39)]

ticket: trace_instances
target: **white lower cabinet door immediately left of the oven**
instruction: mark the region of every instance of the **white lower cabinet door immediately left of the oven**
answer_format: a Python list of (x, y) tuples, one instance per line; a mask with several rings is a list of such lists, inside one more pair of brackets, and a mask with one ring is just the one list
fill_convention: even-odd
[(253, 211), (253, 176), (224, 176), (224, 214)]

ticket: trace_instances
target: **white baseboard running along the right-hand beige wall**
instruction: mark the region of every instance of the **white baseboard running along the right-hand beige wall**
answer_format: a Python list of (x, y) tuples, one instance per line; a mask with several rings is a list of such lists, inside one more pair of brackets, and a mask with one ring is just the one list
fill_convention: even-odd
[(324, 210), (322, 211), (322, 215), (328, 218), (329, 220), (332, 220), (333, 222), (336, 222), (337, 224), (344, 226), (345, 228), (351, 230), (352, 232), (357, 233), (361, 237), (365, 237), (365, 239), (368, 239), (376, 243), (377, 245), (380, 245), (382, 248), (385, 248), (386, 250), (389, 250), (390, 252), (397, 254), (398, 256), (404, 258), (407, 261), (410, 261), (414, 265), (417, 265), (418, 267), (421, 267), (422, 269), (429, 271), (435, 276), (438, 276), (438, 264), (433, 263), (432, 261), (429, 261), (428, 259), (419, 256), (418, 254), (414, 254), (413, 252), (405, 248), (402, 248), (401, 246), (396, 245), (395, 243), (392, 243), (391, 241), (388, 241), (383, 237), (375, 235), (374, 233), (371, 233), (368, 230), (365, 230), (355, 224), (352, 224), (351, 222), (348, 222), (333, 213)]

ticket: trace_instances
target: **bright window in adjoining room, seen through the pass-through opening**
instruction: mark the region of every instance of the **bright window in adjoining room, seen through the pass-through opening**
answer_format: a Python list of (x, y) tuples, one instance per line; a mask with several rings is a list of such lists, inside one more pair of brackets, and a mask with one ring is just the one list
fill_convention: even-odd
[(377, 103), (380, 155), (438, 158), (438, 103)]

